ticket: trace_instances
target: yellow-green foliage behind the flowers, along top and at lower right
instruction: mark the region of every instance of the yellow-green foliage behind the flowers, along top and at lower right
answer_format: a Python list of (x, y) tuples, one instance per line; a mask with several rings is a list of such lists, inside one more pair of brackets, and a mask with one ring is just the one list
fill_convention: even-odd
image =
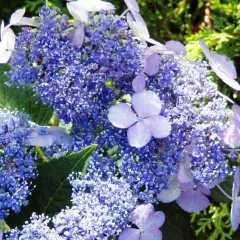
[[(110, 1), (110, 0), (109, 0)], [(117, 13), (125, 9), (123, 0), (112, 0)], [(240, 76), (240, 3), (239, 0), (138, 0), (141, 14), (151, 36), (160, 42), (174, 39), (183, 42), (190, 60), (203, 59), (197, 40), (203, 39), (212, 51), (234, 61)], [(27, 16), (36, 15), (45, 0), (0, 0), (0, 19), (25, 6)], [(49, 0), (67, 13), (65, 0)], [(240, 78), (238, 77), (240, 81)], [(219, 90), (240, 104), (240, 94), (216, 78)], [(209, 209), (193, 214), (191, 225), (197, 239), (240, 239), (233, 233), (229, 220), (230, 204), (214, 201)]]

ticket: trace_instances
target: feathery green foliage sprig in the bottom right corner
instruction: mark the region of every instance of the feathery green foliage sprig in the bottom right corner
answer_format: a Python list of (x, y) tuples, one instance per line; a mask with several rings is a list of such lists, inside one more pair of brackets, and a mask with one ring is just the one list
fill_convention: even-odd
[(227, 240), (232, 239), (233, 230), (230, 222), (230, 211), (227, 203), (213, 204), (200, 213), (193, 213), (191, 223), (199, 239)]

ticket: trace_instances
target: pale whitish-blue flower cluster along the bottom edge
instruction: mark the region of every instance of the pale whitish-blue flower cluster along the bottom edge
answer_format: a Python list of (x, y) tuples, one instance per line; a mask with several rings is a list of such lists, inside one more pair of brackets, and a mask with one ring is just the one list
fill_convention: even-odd
[[(128, 226), (137, 199), (124, 179), (105, 181), (96, 176), (92, 180), (77, 174), (70, 176), (70, 183), (71, 208), (62, 210), (53, 219), (33, 214), (31, 222), (21, 231), (12, 230), (9, 239), (108, 240)], [(50, 221), (53, 229), (48, 226)]]

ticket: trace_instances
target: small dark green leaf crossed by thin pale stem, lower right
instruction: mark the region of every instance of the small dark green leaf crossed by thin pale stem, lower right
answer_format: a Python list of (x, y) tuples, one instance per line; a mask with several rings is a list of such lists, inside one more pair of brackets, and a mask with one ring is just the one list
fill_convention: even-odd
[[(233, 177), (232, 176), (227, 177), (226, 180), (219, 185), (229, 196), (232, 196), (232, 185), (233, 185)], [(226, 202), (226, 203), (232, 202), (217, 187), (211, 189), (211, 197), (216, 202)]]

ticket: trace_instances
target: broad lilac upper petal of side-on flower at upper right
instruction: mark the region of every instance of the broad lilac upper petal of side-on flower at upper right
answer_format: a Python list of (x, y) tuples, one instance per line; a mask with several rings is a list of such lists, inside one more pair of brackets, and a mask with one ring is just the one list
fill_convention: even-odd
[(232, 61), (227, 56), (218, 53), (212, 53), (211, 58), (219, 71), (225, 73), (230, 78), (233, 79), (237, 78), (236, 68)]

